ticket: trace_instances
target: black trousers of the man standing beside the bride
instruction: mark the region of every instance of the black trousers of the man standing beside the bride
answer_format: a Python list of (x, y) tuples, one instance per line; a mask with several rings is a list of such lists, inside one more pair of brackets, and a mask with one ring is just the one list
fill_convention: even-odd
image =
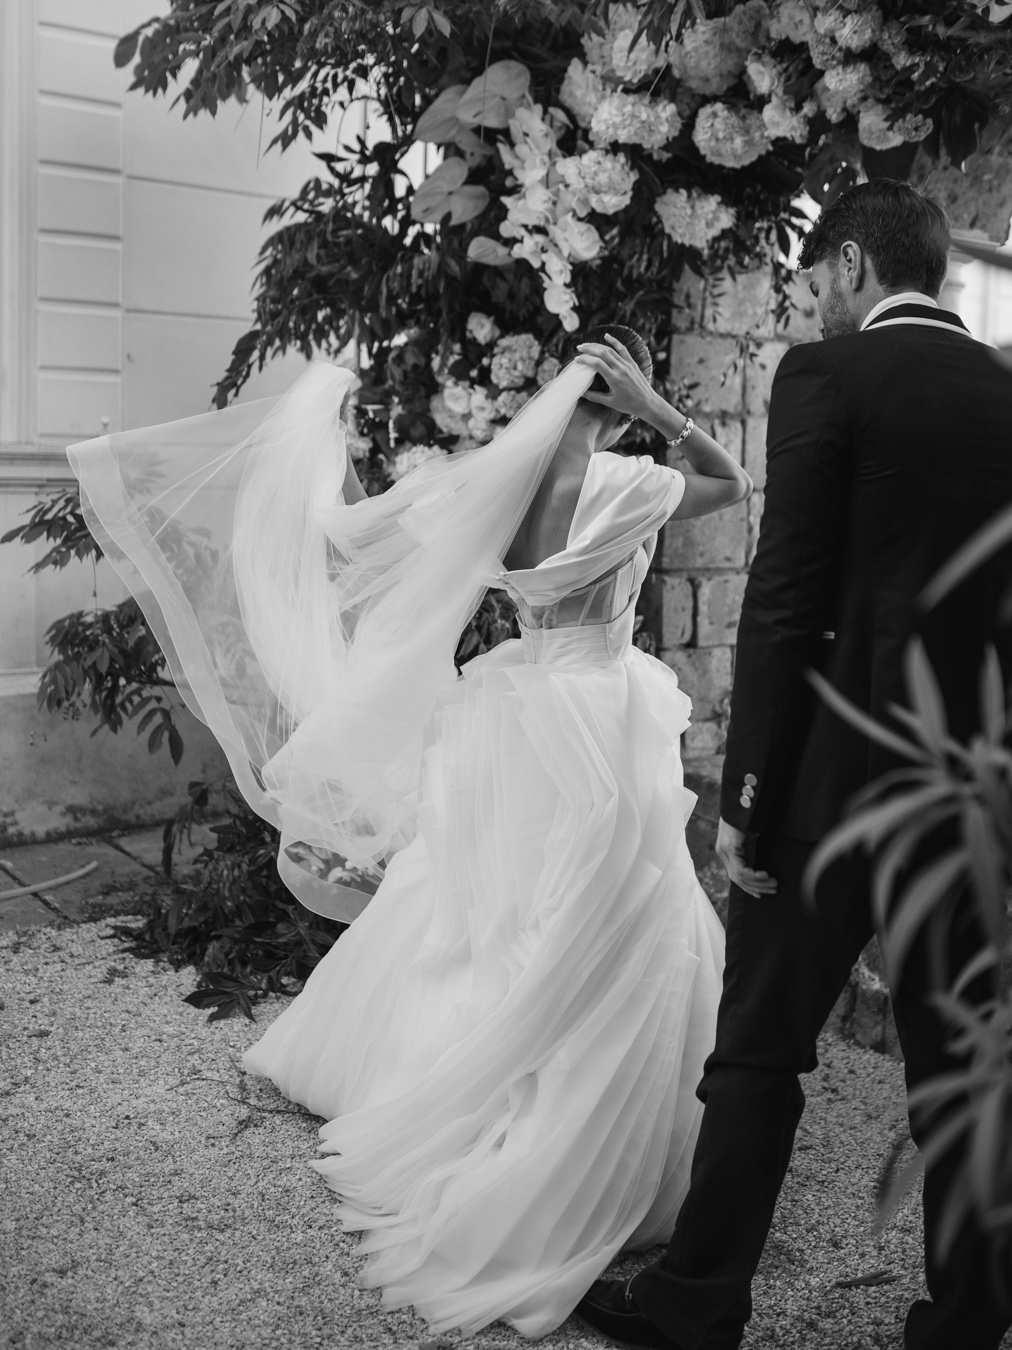
[[(731, 887), (723, 995), (715, 1048), (699, 1085), (706, 1110), (690, 1191), (668, 1251), (631, 1285), (640, 1310), (685, 1350), (737, 1345), (752, 1315), (752, 1277), (804, 1110), (797, 1076), (816, 1066), (816, 1037), (873, 934), (864, 860), (835, 864), (812, 907), (802, 898), (811, 850), (796, 840), (762, 837), (756, 865), (777, 879), (777, 894), (757, 899)], [(980, 945), (966, 906), (947, 944), (953, 973)], [(892, 991), (908, 1088), (958, 1062), (946, 1052), (947, 1027), (924, 1000), (932, 960), (923, 938)], [(990, 992), (990, 981), (980, 980), (973, 998)], [(918, 1141), (916, 1120), (912, 1133)], [(924, 1318), (911, 1318), (911, 1350), (996, 1350), (1009, 1326), (990, 1280), (988, 1245), (973, 1223), (963, 1227), (946, 1264), (935, 1257), (945, 1196), (959, 1161), (957, 1148), (924, 1181), (934, 1307), (920, 1310)]]

